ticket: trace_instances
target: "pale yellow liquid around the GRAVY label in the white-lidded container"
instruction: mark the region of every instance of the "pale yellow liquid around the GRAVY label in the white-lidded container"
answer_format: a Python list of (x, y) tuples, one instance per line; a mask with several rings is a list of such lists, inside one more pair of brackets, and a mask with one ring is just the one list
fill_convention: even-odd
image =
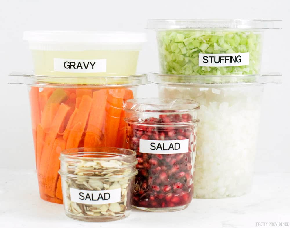
[[(92, 51), (42, 51), (32, 50), (36, 75), (61, 76), (68, 79), (49, 79), (50, 83), (96, 84), (104, 80), (85, 79), (90, 76), (125, 76), (136, 73), (139, 51), (132, 50), (92, 50)], [(106, 72), (71, 73), (54, 71), (54, 58), (61, 59), (106, 59)], [(69, 77), (79, 77), (71, 79)], [(113, 83), (113, 82), (112, 82)]]

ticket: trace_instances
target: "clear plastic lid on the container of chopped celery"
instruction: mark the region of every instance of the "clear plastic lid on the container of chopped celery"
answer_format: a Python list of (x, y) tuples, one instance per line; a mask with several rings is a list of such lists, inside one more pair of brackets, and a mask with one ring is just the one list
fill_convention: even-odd
[(281, 29), (282, 20), (261, 19), (155, 19), (147, 29)]

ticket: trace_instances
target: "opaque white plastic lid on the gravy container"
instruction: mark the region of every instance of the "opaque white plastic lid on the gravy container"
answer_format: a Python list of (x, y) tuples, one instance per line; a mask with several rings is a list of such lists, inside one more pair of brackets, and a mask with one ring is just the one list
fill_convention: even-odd
[(30, 42), (140, 43), (145, 33), (117, 31), (25, 31), (23, 40)]

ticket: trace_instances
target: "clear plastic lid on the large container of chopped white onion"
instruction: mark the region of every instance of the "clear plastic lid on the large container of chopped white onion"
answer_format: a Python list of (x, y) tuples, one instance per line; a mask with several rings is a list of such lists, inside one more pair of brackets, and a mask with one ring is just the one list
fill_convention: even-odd
[(149, 81), (156, 84), (199, 86), (199, 87), (225, 87), (242, 86), (267, 83), (282, 83), (280, 73), (264, 75), (172, 75), (149, 73)]

